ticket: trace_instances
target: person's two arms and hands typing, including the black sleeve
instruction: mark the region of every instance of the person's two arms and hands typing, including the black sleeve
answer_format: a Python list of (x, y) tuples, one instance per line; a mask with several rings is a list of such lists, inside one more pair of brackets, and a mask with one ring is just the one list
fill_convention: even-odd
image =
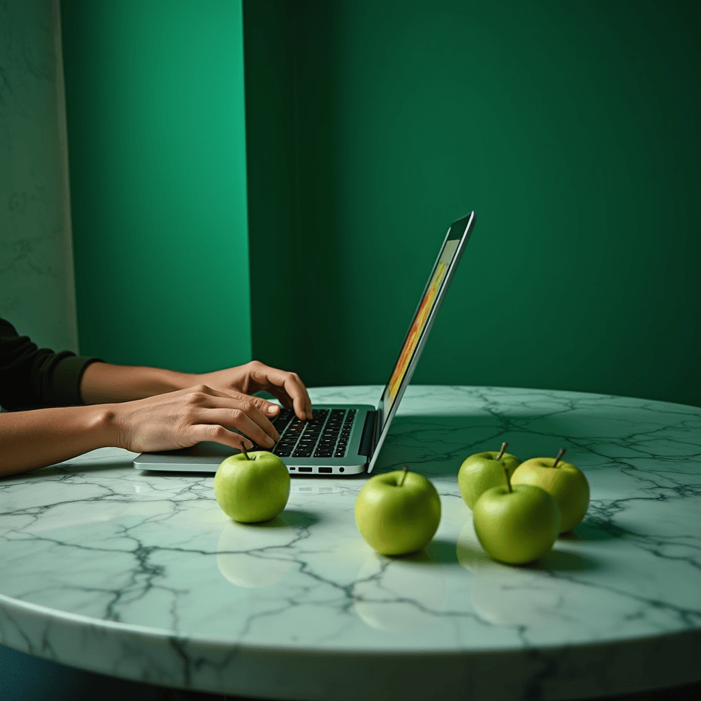
[[(285, 407), (294, 404), (299, 418), (307, 406), (311, 417), (306, 388), (294, 373), (258, 362), (204, 375), (109, 365), (39, 349), (0, 319), (0, 402), (30, 409), (0, 414), (0, 477), (100, 447), (144, 452), (215, 441), (252, 448), (226, 427), (270, 448), (280, 435), (268, 416), (279, 409), (248, 396), (268, 388)], [(88, 406), (74, 406), (82, 403)]]

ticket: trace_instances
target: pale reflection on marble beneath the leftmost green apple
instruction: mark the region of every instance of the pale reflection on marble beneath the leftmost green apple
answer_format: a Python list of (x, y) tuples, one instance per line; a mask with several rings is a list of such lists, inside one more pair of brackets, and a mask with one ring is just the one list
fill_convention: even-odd
[(292, 568), (285, 545), (294, 532), (279, 516), (263, 524), (229, 521), (217, 544), (217, 566), (237, 587), (261, 589), (279, 582)]

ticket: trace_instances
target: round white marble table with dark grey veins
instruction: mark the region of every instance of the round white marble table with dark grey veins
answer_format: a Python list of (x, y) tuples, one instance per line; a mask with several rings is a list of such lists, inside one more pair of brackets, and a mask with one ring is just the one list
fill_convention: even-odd
[[(374, 403), (379, 387), (318, 388)], [(554, 455), (587, 475), (574, 535), (492, 562), (458, 491), (466, 456)], [(213, 475), (101, 449), (0, 480), (0, 642), (124, 679), (279, 700), (575, 699), (701, 679), (701, 409), (411, 386), (379, 471), (442, 501), (418, 555), (374, 554), (367, 476), (293, 477), (283, 515), (227, 519)]]

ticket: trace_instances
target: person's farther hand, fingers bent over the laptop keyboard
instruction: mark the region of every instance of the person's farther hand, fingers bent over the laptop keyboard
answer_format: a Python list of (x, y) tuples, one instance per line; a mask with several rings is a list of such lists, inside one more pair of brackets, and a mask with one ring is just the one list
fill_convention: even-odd
[(231, 390), (234, 390), (237, 393), (252, 395), (265, 390), (277, 397), (286, 409), (294, 409), (300, 421), (312, 418), (311, 400), (296, 372), (285, 372), (252, 360), (246, 365), (205, 372), (196, 378), (196, 384), (201, 383), (222, 392), (231, 393)]

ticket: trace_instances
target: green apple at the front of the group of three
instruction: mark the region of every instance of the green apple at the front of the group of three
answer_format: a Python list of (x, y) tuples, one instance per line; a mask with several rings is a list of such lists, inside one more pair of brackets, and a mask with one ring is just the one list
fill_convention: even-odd
[(472, 509), (479, 543), (489, 557), (508, 564), (533, 562), (550, 550), (560, 532), (560, 510), (545, 489), (530, 484), (493, 486)]

